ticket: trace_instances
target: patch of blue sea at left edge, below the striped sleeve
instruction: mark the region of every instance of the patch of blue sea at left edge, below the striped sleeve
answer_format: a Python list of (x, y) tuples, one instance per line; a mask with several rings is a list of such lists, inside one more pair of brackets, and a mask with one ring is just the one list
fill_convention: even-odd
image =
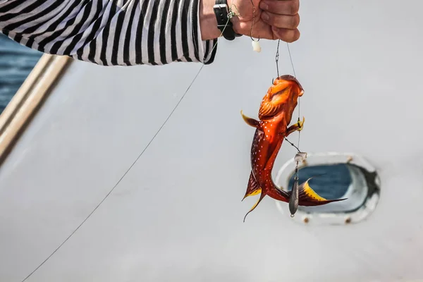
[(0, 114), (41, 56), (42, 52), (0, 34)]

